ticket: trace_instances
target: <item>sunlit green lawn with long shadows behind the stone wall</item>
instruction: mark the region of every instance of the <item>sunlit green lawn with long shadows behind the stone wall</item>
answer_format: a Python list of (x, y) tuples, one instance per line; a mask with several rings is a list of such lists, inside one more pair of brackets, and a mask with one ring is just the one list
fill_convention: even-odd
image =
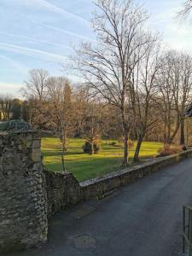
[[(92, 177), (99, 177), (108, 172), (119, 170), (122, 162), (123, 146), (119, 145), (119, 147), (115, 147), (110, 145), (112, 142), (117, 141), (102, 140), (99, 154), (90, 155), (83, 154), (82, 146), (84, 139), (70, 139), (65, 156), (67, 171), (73, 172), (73, 175), (81, 182)], [(49, 171), (61, 171), (60, 145), (59, 139), (55, 137), (42, 138), (44, 165)], [(140, 157), (143, 159), (153, 157), (157, 154), (158, 149), (162, 147), (162, 143), (143, 143)], [(133, 157), (134, 148), (130, 150), (130, 158)]]

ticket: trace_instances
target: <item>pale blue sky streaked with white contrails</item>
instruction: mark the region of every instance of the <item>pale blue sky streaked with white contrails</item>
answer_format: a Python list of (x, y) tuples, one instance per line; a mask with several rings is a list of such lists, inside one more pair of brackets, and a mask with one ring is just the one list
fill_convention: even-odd
[[(174, 49), (192, 49), (192, 26), (174, 19), (183, 0), (143, 0), (151, 15), (148, 26), (162, 33)], [(0, 1), (0, 94), (19, 96), (31, 68), (44, 68), (62, 75), (72, 44), (94, 40), (89, 20), (91, 0)], [(71, 78), (73, 79), (73, 78)]]

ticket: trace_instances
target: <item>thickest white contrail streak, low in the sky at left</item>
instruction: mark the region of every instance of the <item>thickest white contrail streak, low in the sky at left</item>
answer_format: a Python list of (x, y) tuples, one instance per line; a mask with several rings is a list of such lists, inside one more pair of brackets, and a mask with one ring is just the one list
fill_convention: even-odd
[(32, 57), (38, 57), (38, 58), (44, 59), (46, 61), (58, 62), (58, 61), (66, 61), (67, 60), (67, 56), (64, 56), (64, 55), (56, 55), (53, 53), (49, 53), (47, 51), (26, 48), (26, 47), (18, 46), (15, 44), (0, 43), (0, 49), (7, 50), (9, 52), (14, 52), (14, 53), (20, 54), (20, 55), (28, 55), (28, 56), (32, 56)]

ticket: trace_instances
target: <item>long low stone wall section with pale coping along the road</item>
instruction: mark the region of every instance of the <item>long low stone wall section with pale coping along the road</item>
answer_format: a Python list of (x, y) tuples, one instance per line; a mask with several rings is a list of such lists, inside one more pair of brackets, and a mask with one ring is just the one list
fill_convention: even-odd
[(96, 177), (80, 183), (84, 200), (91, 198), (101, 199), (108, 193), (113, 192), (119, 186), (134, 183), (138, 178), (159, 172), (165, 166), (172, 165), (181, 160), (192, 157), (192, 149), (180, 154), (166, 156), (152, 160), (140, 166), (134, 166), (122, 171), (109, 173), (103, 177)]

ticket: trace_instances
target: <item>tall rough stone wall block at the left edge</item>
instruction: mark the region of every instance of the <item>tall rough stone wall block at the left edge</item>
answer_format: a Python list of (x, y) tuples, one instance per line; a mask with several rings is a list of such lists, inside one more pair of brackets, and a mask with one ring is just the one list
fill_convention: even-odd
[(35, 131), (0, 133), (0, 252), (47, 240), (47, 198), (40, 137)]

